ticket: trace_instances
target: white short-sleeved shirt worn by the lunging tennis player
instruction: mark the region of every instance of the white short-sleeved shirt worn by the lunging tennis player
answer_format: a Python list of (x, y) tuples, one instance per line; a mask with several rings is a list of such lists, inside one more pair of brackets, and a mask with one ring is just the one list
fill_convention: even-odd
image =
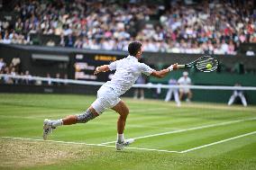
[(133, 56), (114, 61), (109, 65), (109, 69), (116, 71), (111, 81), (106, 82), (103, 86), (113, 88), (118, 96), (129, 90), (141, 74), (150, 76), (154, 71)]

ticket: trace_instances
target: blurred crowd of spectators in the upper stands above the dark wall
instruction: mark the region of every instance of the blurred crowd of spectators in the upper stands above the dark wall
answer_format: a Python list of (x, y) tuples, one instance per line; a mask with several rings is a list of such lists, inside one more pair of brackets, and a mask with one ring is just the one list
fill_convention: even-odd
[(41, 33), (59, 36), (47, 46), (127, 50), (130, 41), (140, 40), (144, 51), (229, 55), (241, 43), (256, 42), (251, 0), (169, 2), (17, 1), (14, 25), (0, 21), (0, 42), (32, 44), (31, 35)]

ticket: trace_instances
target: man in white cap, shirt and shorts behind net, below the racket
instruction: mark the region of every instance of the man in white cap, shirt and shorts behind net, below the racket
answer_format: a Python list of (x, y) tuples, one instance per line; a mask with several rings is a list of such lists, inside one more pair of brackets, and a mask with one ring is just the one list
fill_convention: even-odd
[[(183, 72), (183, 76), (178, 78), (178, 85), (191, 85), (191, 79), (188, 77), (187, 71)], [(187, 95), (187, 102), (190, 102), (192, 93), (188, 87), (179, 88), (179, 99), (182, 100), (184, 95)]]

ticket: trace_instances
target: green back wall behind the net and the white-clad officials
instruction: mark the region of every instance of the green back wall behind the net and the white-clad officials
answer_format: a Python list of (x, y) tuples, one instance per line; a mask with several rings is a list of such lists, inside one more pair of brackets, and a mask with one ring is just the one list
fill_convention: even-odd
[[(163, 79), (151, 78), (151, 83), (162, 83), (168, 84), (170, 77), (178, 79), (182, 76), (182, 71), (173, 71)], [(256, 76), (255, 75), (237, 75), (228, 73), (201, 73), (189, 72), (189, 76), (192, 80), (193, 85), (234, 85), (240, 83), (243, 86), (255, 86)], [(160, 98), (165, 97), (167, 90), (162, 90)], [(197, 90), (193, 89), (193, 101), (200, 102), (213, 102), (213, 103), (227, 103), (230, 96), (233, 94), (231, 90)], [(245, 97), (249, 104), (256, 104), (256, 91), (244, 91)], [(237, 101), (239, 103), (239, 100)]]

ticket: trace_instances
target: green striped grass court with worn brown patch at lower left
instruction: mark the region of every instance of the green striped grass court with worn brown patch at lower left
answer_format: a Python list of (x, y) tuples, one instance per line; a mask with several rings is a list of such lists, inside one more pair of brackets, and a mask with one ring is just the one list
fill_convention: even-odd
[[(138, 138), (121, 152), (88, 146), (114, 141), (117, 114), (111, 110), (87, 124), (63, 126), (41, 141), (42, 121), (78, 114), (94, 96), (64, 94), (0, 94), (0, 169), (255, 169), (256, 134), (185, 151), (256, 131), (256, 107), (214, 103), (175, 103), (128, 98), (125, 137)], [(212, 126), (210, 126), (212, 125)], [(179, 130), (179, 132), (178, 132)], [(23, 138), (7, 139), (3, 137)], [(136, 148), (148, 148), (145, 150)]]

